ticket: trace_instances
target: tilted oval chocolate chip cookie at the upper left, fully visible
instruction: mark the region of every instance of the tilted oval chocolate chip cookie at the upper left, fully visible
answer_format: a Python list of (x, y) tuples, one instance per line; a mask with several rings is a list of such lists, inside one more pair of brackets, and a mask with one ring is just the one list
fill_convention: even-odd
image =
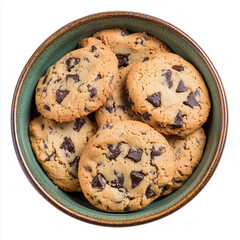
[(117, 83), (118, 60), (101, 41), (83, 39), (51, 66), (36, 87), (36, 106), (46, 118), (73, 121), (102, 106)]

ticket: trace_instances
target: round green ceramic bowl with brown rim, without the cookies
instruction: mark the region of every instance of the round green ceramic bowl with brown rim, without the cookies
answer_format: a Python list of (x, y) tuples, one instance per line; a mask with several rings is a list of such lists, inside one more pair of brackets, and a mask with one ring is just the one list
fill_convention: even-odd
[[(66, 193), (46, 176), (31, 149), (28, 124), (35, 111), (34, 92), (38, 79), (52, 64), (96, 31), (128, 28), (163, 40), (169, 48), (194, 64), (208, 86), (212, 109), (204, 125), (207, 143), (203, 158), (191, 177), (172, 194), (157, 199), (133, 213), (107, 213), (91, 206), (82, 194)], [(228, 110), (220, 77), (204, 51), (177, 27), (149, 15), (134, 12), (103, 12), (73, 21), (51, 35), (33, 53), (24, 67), (13, 96), (11, 127), (19, 162), (29, 181), (52, 205), (77, 219), (100, 225), (128, 226), (162, 218), (188, 203), (211, 178), (220, 160), (227, 134)]]

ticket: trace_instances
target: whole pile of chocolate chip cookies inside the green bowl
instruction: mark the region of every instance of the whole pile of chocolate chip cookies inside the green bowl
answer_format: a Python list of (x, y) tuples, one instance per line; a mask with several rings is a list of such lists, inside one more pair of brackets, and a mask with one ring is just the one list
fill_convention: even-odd
[(211, 103), (201, 74), (159, 39), (108, 29), (83, 39), (36, 87), (33, 151), (64, 191), (137, 211), (198, 165)]

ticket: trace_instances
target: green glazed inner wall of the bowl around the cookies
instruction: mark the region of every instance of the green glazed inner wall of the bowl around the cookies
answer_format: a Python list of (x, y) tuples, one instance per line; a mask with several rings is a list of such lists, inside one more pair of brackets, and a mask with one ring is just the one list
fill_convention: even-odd
[[(28, 137), (28, 125), (35, 108), (35, 87), (39, 78), (45, 74), (48, 67), (54, 64), (66, 53), (75, 49), (81, 39), (92, 36), (96, 31), (115, 27), (128, 28), (133, 32), (146, 32), (164, 41), (174, 53), (181, 55), (185, 60), (191, 62), (197, 67), (205, 79), (212, 101), (211, 113), (204, 126), (208, 137), (204, 155), (199, 166), (191, 177), (177, 191), (164, 198), (157, 199), (148, 207), (138, 212), (121, 214), (102, 212), (90, 205), (81, 193), (66, 193), (57, 188), (52, 181), (49, 180), (38, 164)], [(41, 185), (41, 187), (45, 189), (45, 191), (54, 198), (59, 205), (64, 205), (71, 211), (90, 218), (109, 221), (137, 221), (137, 219), (142, 217), (152, 216), (168, 209), (184, 199), (194, 190), (209, 169), (212, 159), (217, 151), (222, 119), (220, 97), (211, 70), (209, 70), (207, 64), (199, 55), (199, 50), (195, 48), (192, 43), (187, 42), (186, 38), (182, 37), (181, 34), (176, 33), (175, 30), (164, 24), (154, 23), (153, 21), (146, 19), (133, 18), (131, 16), (114, 16), (99, 18), (94, 21), (90, 19), (83, 24), (79, 21), (79, 24), (75, 24), (50, 44), (43, 46), (43, 48), (44, 50), (37, 56), (36, 60), (31, 65), (31, 68), (25, 75), (25, 80), (19, 94), (16, 114), (17, 135), (21, 152), (24, 157), (23, 161), (25, 161), (27, 168), (31, 171), (39, 185)]]

